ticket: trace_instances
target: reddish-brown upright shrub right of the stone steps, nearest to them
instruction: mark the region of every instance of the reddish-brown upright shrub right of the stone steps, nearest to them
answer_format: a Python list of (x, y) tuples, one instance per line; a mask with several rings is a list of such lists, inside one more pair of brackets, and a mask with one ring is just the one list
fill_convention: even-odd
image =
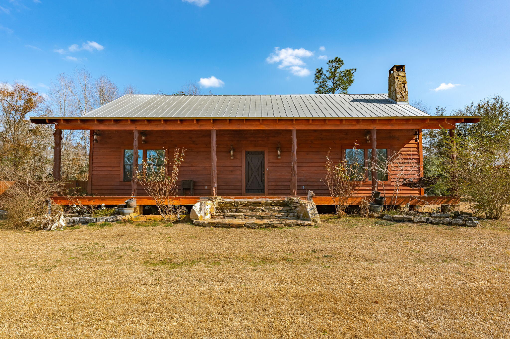
[[(353, 149), (356, 149), (356, 145)], [(322, 182), (327, 186), (329, 195), (333, 198), (337, 217), (342, 218), (349, 199), (358, 192), (360, 181), (365, 178), (365, 167), (347, 158), (335, 163), (331, 159), (332, 156), (333, 153), (329, 149), (326, 156), (326, 173)]]

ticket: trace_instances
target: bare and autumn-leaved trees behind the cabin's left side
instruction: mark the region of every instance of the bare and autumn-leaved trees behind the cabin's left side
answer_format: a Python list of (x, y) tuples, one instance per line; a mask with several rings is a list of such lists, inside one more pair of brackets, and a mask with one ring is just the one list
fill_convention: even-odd
[[(38, 178), (51, 179), (54, 128), (32, 124), (29, 116), (78, 117), (132, 94), (140, 94), (135, 85), (120, 88), (106, 75), (94, 78), (86, 68), (58, 74), (46, 94), (17, 81), (0, 83), (0, 166), (28, 167)], [(189, 81), (174, 94), (197, 95), (202, 90)], [(62, 180), (88, 178), (89, 146), (89, 131), (62, 131)]]

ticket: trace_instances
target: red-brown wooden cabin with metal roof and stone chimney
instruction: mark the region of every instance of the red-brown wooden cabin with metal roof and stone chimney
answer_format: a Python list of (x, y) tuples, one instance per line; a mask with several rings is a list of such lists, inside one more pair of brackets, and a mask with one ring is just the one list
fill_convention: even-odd
[[(404, 65), (389, 70), (388, 94), (339, 95), (125, 95), (80, 117), (31, 117), (55, 125), (53, 175), (60, 180), (62, 130), (89, 130), (90, 157), (84, 204), (154, 204), (134, 179), (141, 162), (161, 166), (175, 147), (186, 149), (175, 204), (204, 196), (276, 198), (315, 193), (317, 205), (333, 204), (323, 182), (328, 151), (339, 161), (354, 155), (362, 165), (401, 152), (406, 178), (423, 176), (422, 130), (478, 122), (471, 116), (431, 116), (409, 104)], [(137, 157), (134, 155), (138, 155)], [(392, 176), (368, 172), (351, 204)], [(398, 204), (455, 203), (403, 185)], [(68, 204), (54, 197), (57, 204)]]

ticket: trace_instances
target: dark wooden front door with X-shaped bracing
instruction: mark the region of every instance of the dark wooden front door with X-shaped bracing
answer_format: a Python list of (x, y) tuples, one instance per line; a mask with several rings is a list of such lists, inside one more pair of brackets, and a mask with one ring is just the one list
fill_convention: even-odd
[(247, 150), (245, 155), (245, 193), (265, 194), (265, 154), (263, 150)]

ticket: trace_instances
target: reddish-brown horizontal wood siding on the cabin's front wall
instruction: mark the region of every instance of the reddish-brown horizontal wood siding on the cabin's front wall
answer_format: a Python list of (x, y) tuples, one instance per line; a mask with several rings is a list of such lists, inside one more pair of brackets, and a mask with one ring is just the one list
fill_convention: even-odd
[[(328, 191), (321, 179), (324, 176), (325, 158), (329, 148), (333, 159), (341, 159), (343, 151), (352, 148), (369, 149), (365, 130), (298, 130), (297, 131), (297, 181), (298, 195), (312, 190), (318, 196)], [(417, 165), (420, 163), (419, 144), (414, 141), (414, 130), (378, 130), (377, 148), (404, 151)], [(181, 180), (195, 181), (195, 195), (211, 194), (211, 131), (146, 131), (146, 143), (139, 142), (140, 149), (166, 148), (173, 155), (175, 147), (186, 148), (181, 165)], [(92, 194), (130, 195), (131, 182), (121, 181), (122, 149), (133, 148), (132, 131), (100, 131), (92, 153)], [(280, 144), (281, 159), (277, 159), (276, 147)], [(230, 159), (231, 144), (234, 159)], [(217, 172), (218, 195), (242, 195), (242, 152), (246, 149), (264, 149), (267, 152), (266, 169), (268, 195), (289, 195), (291, 175), (290, 130), (218, 130)], [(414, 171), (410, 177), (418, 177)], [(305, 187), (304, 189), (302, 187)], [(206, 188), (207, 187), (207, 188)], [(385, 186), (387, 194), (393, 193), (391, 185)], [(362, 185), (358, 194), (370, 194), (370, 182)], [(379, 187), (379, 189), (382, 189)], [(141, 186), (139, 195), (145, 195)], [(401, 194), (420, 195), (419, 189), (403, 188)]]

